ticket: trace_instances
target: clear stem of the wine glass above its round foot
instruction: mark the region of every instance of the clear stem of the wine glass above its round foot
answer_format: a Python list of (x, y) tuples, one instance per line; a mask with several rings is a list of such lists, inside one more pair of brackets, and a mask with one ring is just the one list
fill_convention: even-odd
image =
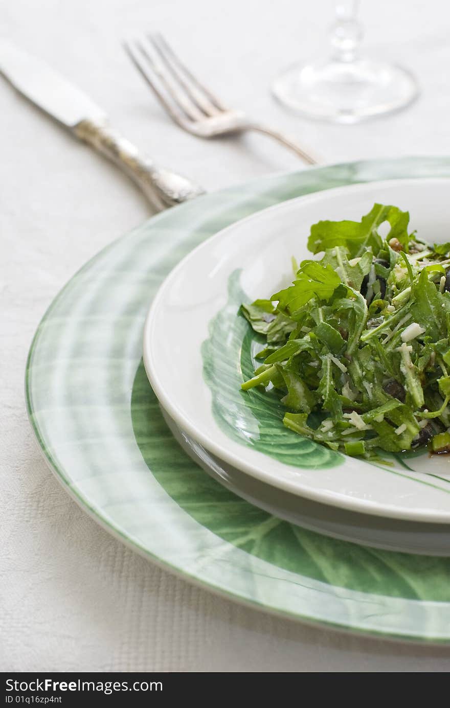
[(363, 36), (358, 20), (359, 0), (338, 0), (332, 25), (333, 58), (337, 62), (354, 62)]

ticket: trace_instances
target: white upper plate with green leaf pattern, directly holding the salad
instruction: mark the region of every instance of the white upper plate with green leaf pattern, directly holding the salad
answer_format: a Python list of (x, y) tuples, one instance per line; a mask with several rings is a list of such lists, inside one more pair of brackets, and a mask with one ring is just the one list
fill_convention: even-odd
[(265, 345), (239, 316), (242, 302), (288, 287), (292, 256), (301, 262), (311, 255), (306, 246), (311, 224), (359, 220), (374, 202), (393, 204), (410, 208), (410, 227), (424, 239), (444, 242), (449, 194), (448, 178), (329, 189), (231, 224), (189, 253), (159, 288), (144, 330), (147, 375), (171, 418), (228, 464), (302, 498), (449, 525), (446, 455), (430, 458), (417, 450), (407, 459), (389, 456), (391, 466), (348, 457), (283, 426), (285, 409), (276, 392), (242, 391), (242, 382), (261, 363), (254, 354)]

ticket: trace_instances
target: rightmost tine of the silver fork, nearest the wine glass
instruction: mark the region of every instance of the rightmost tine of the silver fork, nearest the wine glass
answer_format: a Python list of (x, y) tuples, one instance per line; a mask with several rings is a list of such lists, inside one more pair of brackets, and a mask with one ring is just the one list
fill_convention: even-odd
[(158, 53), (167, 69), (169, 69), (171, 76), (183, 86), (189, 98), (191, 98), (191, 101), (196, 103), (203, 113), (210, 118), (213, 115), (219, 115), (224, 110), (227, 110), (220, 105), (218, 99), (206, 89), (206, 86), (202, 86), (198, 79), (191, 74), (186, 64), (183, 64), (181, 59), (176, 56), (174, 50), (167, 40), (164, 39), (162, 34), (153, 33), (147, 35), (147, 40), (152, 44), (152, 47), (154, 47), (154, 50)]

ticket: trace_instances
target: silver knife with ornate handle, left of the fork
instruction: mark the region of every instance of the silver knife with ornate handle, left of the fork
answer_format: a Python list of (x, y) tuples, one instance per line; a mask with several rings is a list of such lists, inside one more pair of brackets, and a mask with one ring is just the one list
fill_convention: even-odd
[(203, 189), (162, 167), (109, 125), (103, 110), (76, 86), (8, 40), (0, 40), (0, 73), (29, 101), (65, 125), (79, 139), (108, 157), (162, 210), (203, 193)]

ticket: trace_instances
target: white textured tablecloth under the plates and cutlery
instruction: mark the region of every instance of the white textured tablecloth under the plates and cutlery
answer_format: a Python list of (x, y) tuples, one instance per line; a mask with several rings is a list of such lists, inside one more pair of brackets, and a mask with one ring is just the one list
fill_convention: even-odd
[[(0, 35), (76, 81), (157, 161), (208, 190), (298, 161), (264, 137), (202, 142), (172, 125), (120, 49), (159, 28), (230, 104), (302, 138), (324, 161), (449, 154), (450, 9), (362, 3), (366, 48), (407, 64), (423, 93), (356, 127), (299, 120), (268, 93), (274, 72), (325, 42), (320, 0), (6, 0)], [(446, 671), (450, 649), (305, 627), (234, 605), (159, 570), (110, 537), (47, 469), (23, 372), (33, 332), (90, 256), (149, 216), (112, 166), (0, 82), (0, 670)]]

